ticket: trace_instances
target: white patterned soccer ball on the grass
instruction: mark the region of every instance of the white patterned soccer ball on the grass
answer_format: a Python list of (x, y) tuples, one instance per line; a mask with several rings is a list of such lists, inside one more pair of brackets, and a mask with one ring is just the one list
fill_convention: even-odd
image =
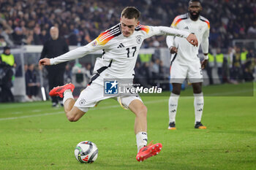
[(80, 163), (93, 163), (97, 157), (98, 148), (93, 142), (83, 141), (75, 147), (75, 158)]

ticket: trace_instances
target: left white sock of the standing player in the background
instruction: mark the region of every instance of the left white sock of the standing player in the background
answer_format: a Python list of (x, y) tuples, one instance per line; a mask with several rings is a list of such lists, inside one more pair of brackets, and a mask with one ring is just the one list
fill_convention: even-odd
[(176, 95), (174, 93), (170, 94), (169, 98), (169, 123), (175, 122), (176, 118), (176, 112), (177, 112), (177, 107), (178, 107), (178, 98), (179, 95)]

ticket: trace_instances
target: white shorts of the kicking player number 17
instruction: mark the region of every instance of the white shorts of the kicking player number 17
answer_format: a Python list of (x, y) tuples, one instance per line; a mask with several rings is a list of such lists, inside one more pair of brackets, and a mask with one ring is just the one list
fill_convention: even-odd
[(87, 88), (81, 91), (80, 96), (78, 97), (78, 100), (75, 101), (74, 106), (78, 107), (78, 109), (83, 112), (88, 112), (88, 110), (91, 107), (95, 107), (99, 101), (105, 100), (107, 98), (116, 99), (124, 109), (128, 109), (129, 104), (135, 99), (143, 102), (140, 96), (121, 96), (118, 98), (113, 96), (106, 96), (104, 95), (104, 88), (103, 78), (101, 76), (97, 77), (97, 79), (94, 80), (91, 85), (88, 85)]

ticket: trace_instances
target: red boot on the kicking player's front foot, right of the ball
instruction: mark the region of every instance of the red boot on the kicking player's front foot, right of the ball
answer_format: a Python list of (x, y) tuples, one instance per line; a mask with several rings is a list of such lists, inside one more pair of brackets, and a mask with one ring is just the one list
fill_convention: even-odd
[(159, 152), (162, 150), (162, 144), (148, 144), (148, 146), (143, 147), (140, 149), (136, 156), (136, 160), (141, 162), (146, 160), (147, 158), (150, 158), (151, 156), (159, 154)]

